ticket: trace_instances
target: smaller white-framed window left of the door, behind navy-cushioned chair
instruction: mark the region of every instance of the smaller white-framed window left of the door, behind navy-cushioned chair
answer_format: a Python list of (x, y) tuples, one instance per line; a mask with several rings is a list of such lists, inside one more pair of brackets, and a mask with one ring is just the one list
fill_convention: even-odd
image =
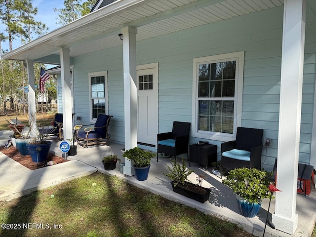
[(108, 74), (107, 71), (89, 73), (91, 118), (95, 120), (99, 114), (108, 114)]

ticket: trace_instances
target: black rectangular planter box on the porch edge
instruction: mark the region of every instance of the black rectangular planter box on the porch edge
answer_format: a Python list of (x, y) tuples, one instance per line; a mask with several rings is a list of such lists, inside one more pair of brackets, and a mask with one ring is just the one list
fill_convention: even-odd
[[(186, 182), (186, 184), (190, 184), (190, 185), (193, 185), (193, 186), (197, 186), (195, 184), (192, 184), (192, 183), (189, 183), (189, 182)], [(200, 189), (202, 189), (203, 194), (199, 194), (199, 193), (196, 193), (194, 192), (193, 190), (188, 190), (188, 189), (185, 189), (184, 186), (182, 186), (182, 184), (178, 184), (176, 187), (174, 187), (174, 181), (171, 181), (171, 185), (172, 185), (172, 190), (173, 192), (177, 193), (177, 194), (181, 194), (185, 197), (189, 197), (189, 198), (192, 198), (196, 201), (199, 201), (201, 203), (205, 202), (206, 200), (208, 200), (208, 197), (209, 197), (209, 194), (211, 192), (210, 189), (207, 189), (207, 188), (204, 188), (204, 187), (199, 187)]]

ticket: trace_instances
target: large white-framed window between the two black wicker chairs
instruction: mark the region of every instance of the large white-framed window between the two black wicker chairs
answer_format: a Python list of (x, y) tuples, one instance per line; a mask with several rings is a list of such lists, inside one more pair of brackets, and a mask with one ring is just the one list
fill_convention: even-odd
[(243, 57), (244, 52), (236, 52), (194, 59), (192, 136), (235, 137), (241, 124)]

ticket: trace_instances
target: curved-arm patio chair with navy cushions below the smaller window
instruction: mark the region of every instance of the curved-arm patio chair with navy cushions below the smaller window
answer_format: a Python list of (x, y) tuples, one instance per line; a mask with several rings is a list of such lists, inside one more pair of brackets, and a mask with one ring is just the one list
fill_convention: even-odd
[[(108, 133), (108, 127), (112, 117), (103, 114), (98, 115), (96, 122), (93, 123), (93, 127), (86, 127), (93, 124), (76, 125), (74, 129), (78, 144), (83, 148), (109, 144), (111, 135)], [(83, 127), (83, 131), (80, 131)]]

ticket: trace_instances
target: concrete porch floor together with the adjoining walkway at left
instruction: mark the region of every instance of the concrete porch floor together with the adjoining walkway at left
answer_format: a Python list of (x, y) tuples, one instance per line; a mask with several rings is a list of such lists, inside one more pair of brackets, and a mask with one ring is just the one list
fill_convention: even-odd
[[(0, 131), (0, 146), (3, 146), (7, 142), (10, 133), (12, 132)], [(53, 145), (51, 151), (61, 156), (60, 142), (55, 137), (52, 137), (52, 139)], [(124, 148), (124, 145), (112, 142), (111, 148), (113, 153), (117, 154), (122, 159), (122, 162), (124, 162), (124, 158), (121, 157), (121, 149)], [(235, 195), (229, 188), (222, 184), (219, 177), (210, 172), (211, 169), (205, 171), (198, 164), (191, 163), (191, 168), (195, 172), (190, 175), (190, 180), (196, 183), (196, 177), (203, 174), (206, 176), (203, 186), (212, 189), (209, 200), (200, 203), (172, 191), (170, 180), (162, 173), (166, 172), (166, 164), (170, 165), (169, 159), (159, 158), (159, 162), (157, 162), (154, 158), (151, 162), (148, 179), (146, 181), (138, 181), (134, 176), (129, 177), (120, 173), (119, 164), (117, 164), (115, 170), (104, 170), (101, 157), (103, 154), (109, 152), (108, 146), (96, 146), (87, 149), (82, 149), (79, 146), (77, 156), (67, 158), (70, 161), (33, 171), (0, 153), (0, 200), (20, 197), (35, 190), (44, 189), (71, 179), (92, 174), (98, 170), (105, 174), (117, 175), (137, 187), (149, 190), (162, 197), (237, 223), (244, 230), (255, 236), (263, 235), (269, 199), (263, 201), (261, 210), (256, 217), (245, 218), (239, 214)], [(270, 213), (274, 213), (274, 211), (275, 199), (271, 201)], [(296, 213), (299, 215), (299, 222), (294, 235), (274, 230), (268, 225), (265, 237), (310, 237), (316, 221), (315, 191), (309, 197), (297, 195)], [(269, 214), (269, 218), (271, 220), (271, 214)]]

